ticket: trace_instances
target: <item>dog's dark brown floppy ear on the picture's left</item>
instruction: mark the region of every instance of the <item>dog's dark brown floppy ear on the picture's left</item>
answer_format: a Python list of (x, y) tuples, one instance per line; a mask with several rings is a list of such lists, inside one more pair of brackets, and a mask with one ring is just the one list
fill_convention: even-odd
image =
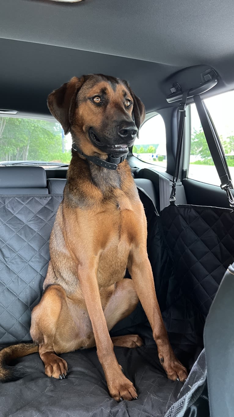
[(78, 90), (84, 84), (85, 77), (73, 77), (68, 83), (52, 91), (47, 98), (50, 113), (60, 122), (65, 135), (70, 132)]

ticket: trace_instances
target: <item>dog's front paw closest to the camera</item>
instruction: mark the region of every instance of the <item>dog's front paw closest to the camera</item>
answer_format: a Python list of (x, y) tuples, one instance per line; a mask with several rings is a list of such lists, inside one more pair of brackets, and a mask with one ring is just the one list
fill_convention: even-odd
[(126, 399), (131, 401), (132, 399), (137, 399), (137, 391), (134, 385), (129, 379), (127, 379), (124, 374), (115, 378), (111, 382), (107, 383), (110, 396), (116, 401), (122, 401)]

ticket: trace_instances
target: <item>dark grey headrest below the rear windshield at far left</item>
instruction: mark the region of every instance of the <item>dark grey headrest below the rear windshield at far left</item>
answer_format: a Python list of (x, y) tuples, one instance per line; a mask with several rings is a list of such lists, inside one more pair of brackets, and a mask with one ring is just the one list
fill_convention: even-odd
[(0, 188), (45, 188), (41, 166), (0, 166)]

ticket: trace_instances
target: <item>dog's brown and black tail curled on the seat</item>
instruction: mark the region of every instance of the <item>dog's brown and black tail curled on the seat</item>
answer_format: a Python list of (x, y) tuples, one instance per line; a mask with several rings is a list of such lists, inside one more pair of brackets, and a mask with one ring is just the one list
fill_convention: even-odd
[(24, 368), (20, 365), (10, 366), (10, 362), (22, 356), (38, 352), (37, 343), (19, 343), (5, 347), (0, 351), (0, 381), (15, 381), (25, 376)]

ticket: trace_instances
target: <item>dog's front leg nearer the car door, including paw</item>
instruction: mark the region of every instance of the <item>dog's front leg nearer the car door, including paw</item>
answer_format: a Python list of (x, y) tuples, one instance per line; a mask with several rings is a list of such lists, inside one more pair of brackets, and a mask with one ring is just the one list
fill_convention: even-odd
[(128, 269), (139, 300), (152, 327), (159, 360), (169, 379), (175, 380), (179, 377), (180, 381), (184, 381), (187, 378), (187, 370), (175, 357), (170, 345), (157, 301), (152, 268), (147, 251), (143, 246), (132, 246)]

